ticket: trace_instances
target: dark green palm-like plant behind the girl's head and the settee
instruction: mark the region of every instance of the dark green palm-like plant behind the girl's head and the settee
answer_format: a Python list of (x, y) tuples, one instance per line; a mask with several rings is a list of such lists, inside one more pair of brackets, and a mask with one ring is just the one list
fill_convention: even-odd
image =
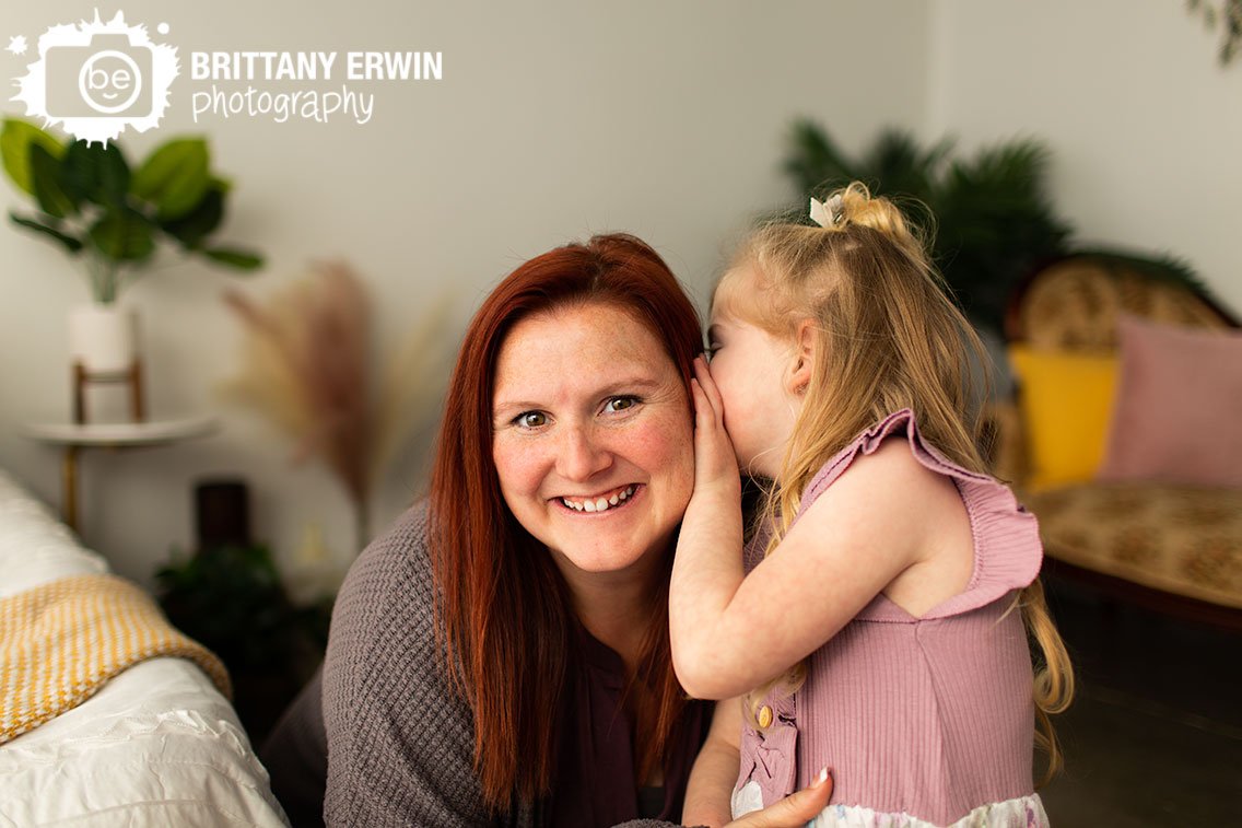
[[(1047, 193), (1048, 150), (1016, 139), (954, 158), (953, 140), (923, 148), (908, 133), (888, 129), (858, 158), (846, 155), (827, 132), (797, 121), (790, 133), (785, 172), (805, 196), (866, 183), (905, 208), (929, 210), (933, 256), (963, 310), (975, 324), (1000, 331), (1017, 285), (1036, 267), (1066, 255), (1092, 256), (1149, 276), (1167, 278), (1210, 296), (1182, 260), (1073, 242), (1069, 223)], [(919, 205), (919, 206), (915, 206)], [(806, 214), (806, 200), (797, 208)]]

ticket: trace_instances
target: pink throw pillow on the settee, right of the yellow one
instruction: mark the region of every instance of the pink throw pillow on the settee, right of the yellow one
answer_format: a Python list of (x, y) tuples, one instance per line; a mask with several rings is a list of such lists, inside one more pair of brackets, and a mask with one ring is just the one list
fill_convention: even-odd
[(1099, 480), (1242, 486), (1242, 332), (1118, 318)]

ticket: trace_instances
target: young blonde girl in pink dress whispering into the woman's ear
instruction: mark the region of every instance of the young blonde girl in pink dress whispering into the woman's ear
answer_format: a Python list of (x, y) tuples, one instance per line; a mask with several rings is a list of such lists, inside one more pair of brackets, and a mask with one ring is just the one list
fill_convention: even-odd
[[(1073, 674), (1036, 520), (968, 421), (981, 346), (891, 201), (856, 183), (811, 218), (741, 249), (696, 364), (673, 663), (692, 696), (746, 704), (717, 705), (683, 819), (728, 822), (831, 765), (815, 826), (1047, 824), (1032, 747), (1051, 776)], [(739, 466), (773, 481), (745, 556)]]

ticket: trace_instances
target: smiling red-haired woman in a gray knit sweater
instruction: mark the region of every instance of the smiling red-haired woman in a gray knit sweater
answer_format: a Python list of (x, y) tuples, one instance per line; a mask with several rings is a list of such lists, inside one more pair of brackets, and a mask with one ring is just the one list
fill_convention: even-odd
[[(693, 305), (632, 236), (538, 256), (483, 302), (431, 495), (337, 600), (329, 824), (679, 818), (710, 719), (677, 685), (667, 617), (700, 351)], [(826, 787), (743, 824), (801, 824)]]

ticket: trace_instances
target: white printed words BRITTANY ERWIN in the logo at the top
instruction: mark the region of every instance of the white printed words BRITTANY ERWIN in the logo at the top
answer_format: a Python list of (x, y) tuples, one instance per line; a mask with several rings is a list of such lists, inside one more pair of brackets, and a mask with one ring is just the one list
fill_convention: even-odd
[[(338, 52), (191, 52), (195, 81), (330, 81)], [(347, 81), (440, 81), (442, 52), (345, 52)]]

